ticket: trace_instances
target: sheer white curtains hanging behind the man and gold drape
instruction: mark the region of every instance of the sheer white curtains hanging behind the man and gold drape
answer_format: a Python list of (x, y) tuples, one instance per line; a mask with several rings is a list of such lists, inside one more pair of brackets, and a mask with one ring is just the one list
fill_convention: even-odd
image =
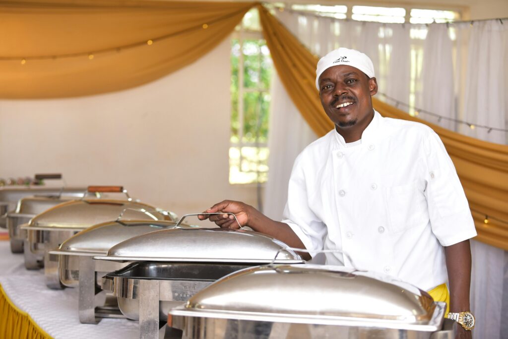
[[(499, 21), (424, 25), (383, 24), (278, 12), (279, 20), (316, 55), (337, 47), (355, 48), (372, 58), (379, 83), (389, 96), (409, 104), (411, 76), (418, 108), (444, 117), (505, 128), (508, 89), (508, 25)], [(420, 30), (420, 35), (411, 32)], [(418, 32), (416, 32), (418, 33)], [(454, 39), (451, 39), (451, 35)], [(422, 42), (421, 40), (424, 39)], [(420, 40), (420, 41), (419, 41)], [(464, 85), (466, 84), (466, 85)], [(292, 105), (278, 78), (273, 80), (270, 126), (270, 175), (265, 190), (266, 213), (280, 220), (293, 161), (316, 138)], [(379, 97), (383, 98), (383, 97)], [(402, 109), (405, 109), (401, 107)], [(441, 126), (495, 143), (506, 133), (448, 122), (422, 114)], [(508, 333), (508, 252), (471, 241), (471, 310), (477, 316), (474, 336), (502, 338)], [(505, 337), (505, 336), (504, 336)]]

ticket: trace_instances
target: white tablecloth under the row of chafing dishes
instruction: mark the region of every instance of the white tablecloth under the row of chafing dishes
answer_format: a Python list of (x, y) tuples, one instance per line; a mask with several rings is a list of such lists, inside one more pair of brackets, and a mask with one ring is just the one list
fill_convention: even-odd
[(102, 319), (97, 325), (81, 324), (78, 290), (46, 287), (43, 270), (25, 269), (23, 254), (12, 254), (8, 241), (0, 241), (0, 284), (9, 299), (55, 339), (139, 338), (137, 321)]

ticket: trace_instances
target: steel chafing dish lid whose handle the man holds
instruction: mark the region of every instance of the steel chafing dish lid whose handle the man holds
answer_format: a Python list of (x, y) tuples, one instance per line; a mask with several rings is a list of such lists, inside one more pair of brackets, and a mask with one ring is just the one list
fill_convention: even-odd
[(126, 240), (113, 246), (107, 256), (94, 259), (117, 261), (180, 262), (303, 262), (288, 246), (254, 231), (226, 228), (166, 229)]

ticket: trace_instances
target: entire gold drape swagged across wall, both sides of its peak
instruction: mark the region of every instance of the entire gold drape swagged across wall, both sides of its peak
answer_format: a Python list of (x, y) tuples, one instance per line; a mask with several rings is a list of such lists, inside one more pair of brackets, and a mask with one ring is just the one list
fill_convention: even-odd
[[(225, 39), (254, 3), (21, 0), (0, 3), (0, 98), (106, 93), (163, 77)], [(277, 73), (317, 135), (333, 128), (314, 87), (313, 56), (256, 4)], [(207, 28), (204, 28), (207, 27)], [(147, 41), (152, 40), (152, 45)], [(93, 54), (89, 59), (88, 55)], [(26, 63), (22, 64), (21, 60)], [(441, 137), (466, 191), (477, 239), (508, 250), (508, 147), (412, 118), (373, 98), (384, 116), (414, 120)], [(479, 212), (476, 212), (479, 211)], [(489, 223), (485, 224), (485, 216)]]

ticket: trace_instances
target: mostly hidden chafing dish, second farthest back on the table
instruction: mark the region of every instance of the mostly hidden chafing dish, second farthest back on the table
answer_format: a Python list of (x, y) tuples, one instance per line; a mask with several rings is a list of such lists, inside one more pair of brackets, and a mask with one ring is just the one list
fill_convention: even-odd
[(72, 197), (25, 197), (18, 201), (15, 211), (8, 212), (6, 215), (7, 228), (9, 229), (9, 238), (11, 242), (12, 253), (23, 252), (23, 242), (26, 239), (26, 232), (21, 231), (20, 226), (26, 224), (31, 218), (42, 213), (49, 208), (59, 205), (62, 202), (69, 201)]

